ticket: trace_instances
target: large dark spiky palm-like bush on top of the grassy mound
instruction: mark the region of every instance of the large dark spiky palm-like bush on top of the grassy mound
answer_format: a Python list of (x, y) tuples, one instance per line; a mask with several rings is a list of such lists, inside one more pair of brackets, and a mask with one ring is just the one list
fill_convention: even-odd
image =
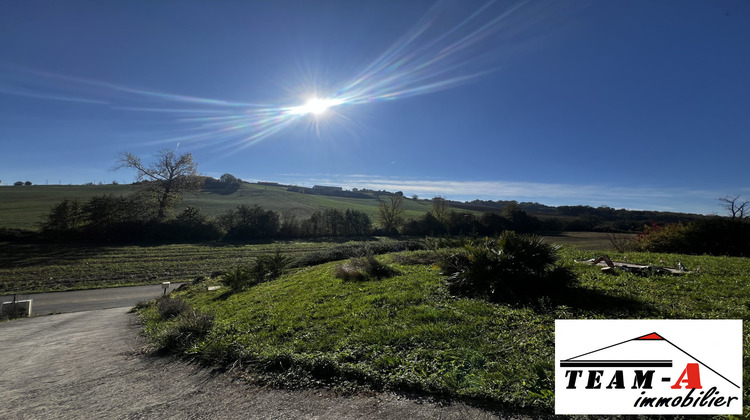
[(493, 302), (548, 295), (575, 281), (570, 270), (558, 264), (556, 246), (511, 231), (496, 240), (467, 244), (443, 260), (441, 269), (449, 276), (451, 293)]

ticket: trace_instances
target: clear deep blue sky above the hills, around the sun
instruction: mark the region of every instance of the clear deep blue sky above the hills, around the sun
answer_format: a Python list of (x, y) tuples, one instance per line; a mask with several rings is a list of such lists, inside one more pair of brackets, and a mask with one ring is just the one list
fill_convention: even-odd
[[(315, 114), (310, 98), (328, 104)], [(750, 2), (0, 4), (0, 180), (201, 173), (721, 213), (750, 196)]]

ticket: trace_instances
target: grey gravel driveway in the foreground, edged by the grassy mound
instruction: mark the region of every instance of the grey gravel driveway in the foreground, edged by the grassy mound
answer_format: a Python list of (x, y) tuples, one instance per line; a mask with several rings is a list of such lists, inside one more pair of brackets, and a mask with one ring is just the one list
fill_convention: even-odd
[[(464, 404), (281, 391), (143, 354), (129, 308), (0, 323), (0, 411), (28, 419), (484, 419)], [(510, 417), (507, 417), (510, 418)]]

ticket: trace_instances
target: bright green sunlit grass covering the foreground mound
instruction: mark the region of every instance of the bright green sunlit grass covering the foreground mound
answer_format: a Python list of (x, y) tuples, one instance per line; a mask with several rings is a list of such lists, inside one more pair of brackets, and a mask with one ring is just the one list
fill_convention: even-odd
[[(677, 260), (700, 274), (640, 277), (603, 274), (572, 264), (580, 287), (534, 302), (491, 304), (455, 298), (429, 264), (429, 252), (380, 256), (399, 272), (347, 282), (333, 262), (245, 292), (193, 287), (178, 295), (213, 329), (184, 353), (245, 366), (251, 379), (286, 387), (327, 386), (418, 391), (551, 413), (554, 405), (554, 320), (587, 318), (750, 319), (750, 260), (629, 253), (632, 262)], [(566, 261), (599, 253), (566, 248)], [(613, 258), (619, 258), (613, 255)], [(144, 310), (156, 342), (178, 321)], [(745, 323), (745, 336), (750, 332)], [(745, 406), (750, 382), (745, 340)]]

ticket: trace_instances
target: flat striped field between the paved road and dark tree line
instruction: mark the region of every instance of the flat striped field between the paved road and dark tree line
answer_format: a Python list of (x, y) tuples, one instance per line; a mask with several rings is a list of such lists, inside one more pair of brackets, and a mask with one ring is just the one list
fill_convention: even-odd
[(84, 246), (6, 243), (0, 246), (0, 295), (191, 281), (247, 264), (277, 249), (299, 256), (334, 244)]

